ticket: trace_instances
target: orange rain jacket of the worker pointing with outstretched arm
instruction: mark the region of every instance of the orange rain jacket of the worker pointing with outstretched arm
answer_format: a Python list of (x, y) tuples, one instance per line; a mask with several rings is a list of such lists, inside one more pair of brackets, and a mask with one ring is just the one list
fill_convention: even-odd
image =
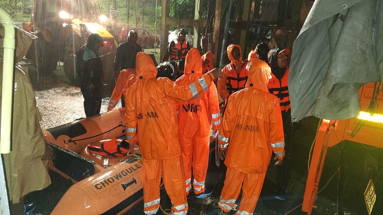
[(155, 78), (152, 58), (139, 52), (136, 83), (126, 91), (126, 139), (138, 141), (144, 159), (168, 159), (181, 155), (175, 101), (198, 98), (214, 80), (208, 72), (189, 86), (169, 78)]

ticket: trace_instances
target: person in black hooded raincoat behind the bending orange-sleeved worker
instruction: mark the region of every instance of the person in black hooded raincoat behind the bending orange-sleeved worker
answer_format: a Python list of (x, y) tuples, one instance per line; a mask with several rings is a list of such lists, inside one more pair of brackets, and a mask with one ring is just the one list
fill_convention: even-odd
[[(117, 81), (119, 72), (128, 68), (136, 68), (136, 55), (142, 52), (142, 48), (137, 44), (138, 34), (134, 30), (128, 33), (128, 40), (121, 43), (116, 51), (115, 63), (113, 65), (113, 77)], [(121, 96), (121, 106), (125, 107), (123, 96)]]

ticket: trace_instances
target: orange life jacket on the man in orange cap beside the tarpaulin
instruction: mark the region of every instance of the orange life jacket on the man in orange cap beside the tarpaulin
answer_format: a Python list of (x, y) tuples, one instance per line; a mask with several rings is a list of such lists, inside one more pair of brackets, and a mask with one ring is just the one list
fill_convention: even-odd
[(291, 108), (287, 84), (288, 71), (289, 68), (287, 67), (285, 74), (280, 80), (271, 73), (272, 78), (268, 81), (267, 85), (268, 91), (279, 98), (281, 111), (288, 111)]

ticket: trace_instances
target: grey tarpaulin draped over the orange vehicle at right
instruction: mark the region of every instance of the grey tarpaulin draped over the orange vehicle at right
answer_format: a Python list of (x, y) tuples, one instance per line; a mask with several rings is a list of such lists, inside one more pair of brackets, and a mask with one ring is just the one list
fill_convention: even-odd
[(293, 122), (358, 115), (358, 90), (382, 79), (382, 11), (383, 0), (314, 2), (291, 55)]

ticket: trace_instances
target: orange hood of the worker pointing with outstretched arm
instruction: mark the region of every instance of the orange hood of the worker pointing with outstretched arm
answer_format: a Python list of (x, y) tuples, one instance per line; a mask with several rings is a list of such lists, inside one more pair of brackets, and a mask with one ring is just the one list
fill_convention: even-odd
[(136, 72), (136, 81), (143, 78), (155, 78), (157, 76), (157, 68), (152, 58), (144, 52), (137, 53)]

